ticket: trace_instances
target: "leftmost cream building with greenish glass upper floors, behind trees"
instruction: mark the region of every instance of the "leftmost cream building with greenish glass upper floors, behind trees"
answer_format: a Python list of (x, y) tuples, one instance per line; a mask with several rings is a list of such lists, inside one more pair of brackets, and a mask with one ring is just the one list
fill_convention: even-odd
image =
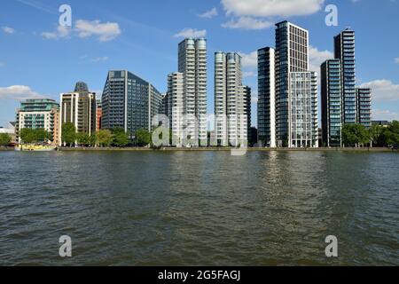
[(59, 133), (56, 130), (58, 124), (57, 115), (59, 104), (53, 99), (27, 99), (21, 102), (17, 110), (17, 121), (15, 134), (18, 143), (21, 143), (20, 130), (22, 129), (43, 129), (50, 133), (52, 144), (59, 141)]

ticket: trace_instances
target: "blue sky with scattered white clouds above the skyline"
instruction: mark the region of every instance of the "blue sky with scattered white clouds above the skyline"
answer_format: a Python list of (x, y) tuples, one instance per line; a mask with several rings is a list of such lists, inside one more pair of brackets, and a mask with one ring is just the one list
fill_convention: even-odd
[[(71, 27), (59, 26), (63, 4), (71, 7)], [(329, 4), (337, 7), (338, 26), (325, 24)], [(100, 96), (108, 70), (129, 70), (167, 91), (185, 36), (207, 38), (208, 114), (215, 51), (241, 54), (256, 126), (255, 51), (275, 46), (281, 20), (309, 30), (310, 69), (317, 72), (333, 57), (333, 36), (354, 29), (356, 80), (373, 89), (373, 119), (399, 120), (399, 0), (3, 0), (0, 126), (15, 120), (21, 100), (59, 101), (78, 81)]]

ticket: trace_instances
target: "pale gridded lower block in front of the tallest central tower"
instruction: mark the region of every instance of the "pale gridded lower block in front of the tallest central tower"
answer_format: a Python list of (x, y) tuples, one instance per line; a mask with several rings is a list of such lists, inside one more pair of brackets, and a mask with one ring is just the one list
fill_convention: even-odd
[(318, 147), (317, 73), (291, 72), (288, 88), (288, 147)]

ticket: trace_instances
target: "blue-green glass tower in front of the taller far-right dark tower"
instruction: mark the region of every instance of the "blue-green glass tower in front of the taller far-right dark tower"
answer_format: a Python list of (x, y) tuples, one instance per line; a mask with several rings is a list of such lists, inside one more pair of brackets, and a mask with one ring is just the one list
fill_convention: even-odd
[(340, 59), (321, 66), (322, 130), (324, 146), (342, 146), (342, 84)]

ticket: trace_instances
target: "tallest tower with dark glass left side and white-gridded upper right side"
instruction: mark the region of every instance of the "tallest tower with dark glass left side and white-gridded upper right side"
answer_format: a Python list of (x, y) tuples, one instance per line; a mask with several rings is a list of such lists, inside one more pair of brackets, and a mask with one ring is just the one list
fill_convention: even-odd
[(309, 71), (309, 32), (288, 21), (276, 24), (276, 136), (278, 146), (290, 142), (289, 79), (292, 72)]

